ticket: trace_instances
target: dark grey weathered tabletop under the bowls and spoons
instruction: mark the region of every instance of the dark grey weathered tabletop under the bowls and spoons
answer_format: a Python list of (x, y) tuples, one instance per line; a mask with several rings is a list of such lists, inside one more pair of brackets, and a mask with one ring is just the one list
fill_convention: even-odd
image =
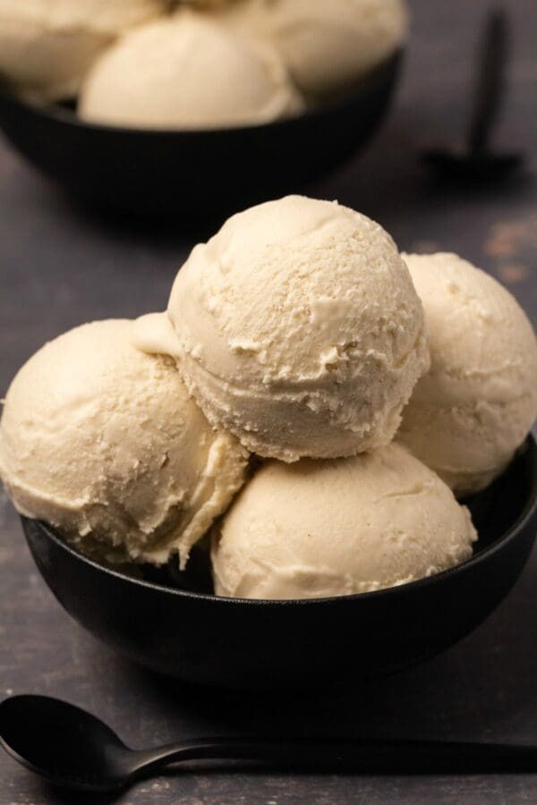
[[(311, 193), (377, 218), (405, 250), (461, 252), (507, 283), (535, 322), (537, 6), (534, 0), (505, 5), (516, 23), (516, 55), (498, 140), (528, 153), (524, 181), (486, 191), (446, 189), (428, 181), (417, 165), (422, 146), (457, 140), (464, 129), (469, 60), (490, 4), (414, 0), (413, 49), (388, 125), (365, 158)], [(0, 394), (47, 338), (91, 318), (162, 309), (195, 240), (181, 233), (180, 221), (158, 231), (84, 216), (0, 145)], [(198, 691), (129, 665), (72, 623), (38, 577), (0, 492), (0, 698), (39, 691), (71, 699), (106, 717), (138, 746), (202, 733), (280, 729), (537, 743), (536, 577), (533, 557), (515, 591), (472, 636), (365, 690), (290, 697)], [(349, 640), (360, 640), (352, 623)], [(222, 770), (166, 775), (117, 799), (122, 805), (536, 800), (537, 775), (336, 777)], [(1, 805), (72, 801), (0, 754)]]

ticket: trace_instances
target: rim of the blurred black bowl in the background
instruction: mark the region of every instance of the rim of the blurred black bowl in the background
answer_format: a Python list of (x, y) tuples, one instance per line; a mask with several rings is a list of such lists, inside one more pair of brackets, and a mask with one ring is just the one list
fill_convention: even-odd
[[(229, 125), (214, 128), (151, 128), (143, 126), (126, 126), (114, 125), (113, 123), (92, 123), (83, 120), (78, 116), (76, 111), (72, 111), (59, 103), (38, 104), (31, 103), (22, 97), (16, 88), (12, 88), (9, 83), (0, 83), (0, 101), (7, 101), (15, 106), (19, 106), (26, 112), (35, 114), (39, 118), (51, 120), (55, 123), (60, 123), (82, 131), (99, 131), (104, 134), (114, 132), (118, 136), (148, 136), (148, 137), (209, 137), (209, 136), (232, 136), (233, 134), (243, 134), (251, 131), (277, 131), (284, 129), (286, 125), (296, 122), (314, 120), (330, 114), (337, 109), (343, 109), (347, 106), (353, 106), (354, 102), (364, 95), (371, 92), (377, 84), (385, 80), (390, 72), (393, 71), (394, 79), (400, 68), (403, 56), (405, 54), (405, 45), (396, 48), (384, 61), (377, 64), (371, 71), (364, 74), (357, 80), (351, 89), (337, 97), (330, 98), (326, 102), (322, 102), (319, 106), (311, 106), (306, 108), (302, 113), (292, 114), (289, 117), (281, 118), (279, 120), (268, 121), (266, 123), (251, 123), (250, 125)], [(0, 127), (2, 122), (0, 120)]]

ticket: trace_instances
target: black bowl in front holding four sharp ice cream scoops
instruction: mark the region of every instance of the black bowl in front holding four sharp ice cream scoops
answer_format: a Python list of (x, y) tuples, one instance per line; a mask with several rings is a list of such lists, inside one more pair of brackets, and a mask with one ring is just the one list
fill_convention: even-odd
[(84, 558), (41, 522), (23, 518), (22, 524), (55, 597), (98, 638), (187, 682), (262, 688), (391, 674), (481, 623), (507, 595), (533, 546), (532, 436), (504, 475), (468, 504), (480, 533), (469, 561), (392, 589), (306, 601), (239, 600), (177, 589), (171, 586), (177, 577), (170, 581), (173, 574), (166, 570), (157, 583), (133, 579)]

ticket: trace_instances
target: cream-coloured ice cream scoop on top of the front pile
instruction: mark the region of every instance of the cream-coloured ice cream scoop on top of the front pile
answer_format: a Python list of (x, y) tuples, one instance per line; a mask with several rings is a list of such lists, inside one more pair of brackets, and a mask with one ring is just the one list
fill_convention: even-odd
[(289, 196), (230, 218), (179, 271), (168, 315), (209, 421), (285, 462), (388, 444), (429, 367), (394, 242), (336, 202)]

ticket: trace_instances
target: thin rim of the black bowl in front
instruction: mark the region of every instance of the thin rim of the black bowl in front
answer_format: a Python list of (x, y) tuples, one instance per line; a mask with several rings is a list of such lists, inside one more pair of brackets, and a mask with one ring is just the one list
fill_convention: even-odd
[(516, 520), (511, 524), (511, 526), (501, 537), (495, 539), (488, 547), (484, 548), (478, 554), (475, 554), (471, 556), (469, 559), (466, 559), (465, 562), (456, 564), (453, 567), (447, 568), (447, 570), (440, 571), (439, 573), (434, 573), (433, 575), (426, 576), (422, 579), (408, 581), (405, 582), (404, 584), (398, 584), (393, 587), (375, 589), (371, 590), (371, 592), (353, 593), (351, 595), (346, 596), (332, 596), (332, 597), (321, 597), (321, 598), (239, 598), (239, 597), (217, 596), (215, 594), (198, 593), (193, 592), (191, 590), (167, 587), (164, 584), (156, 584), (153, 581), (146, 581), (142, 579), (132, 578), (131, 576), (127, 576), (122, 572), (116, 571), (112, 568), (108, 568), (103, 564), (99, 564), (98, 562), (95, 562), (95, 560), (90, 559), (88, 556), (81, 554), (75, 548), (70, 546), (64, 540), (64, 538), (60, 537), (60, 535), (55, 531), (55, 529), (49, 526), (46, 522), (31, 520), (30, 518), (22, 518), (22, 519), (26, 519), (27, 521), (35, 523), (38, 526), (39, 530), (47, 534), (47, 538), (50, 538), (55, 542), (56, 546), (61, 547), (67, 554), (72, 555), (75, 559), (79, 560), (81, 563), (90, 565), (92, 569), (98, 572), (104, 572), (107, 575), (122, 580), (126, 583), (131, 583), (135, 586), (151, 589), (153, 591), (157, 591), (162, 594), (170, 594), (177, 597), (194, 598), (200, 601), (212, 602), (216, 606), (241, 606), (245, 604), (250, 606), (261, 606), (261, 607), (262, 606), (273, 606), (273, 607), (274, 606), (279, 607), (338, 606), (339, 604), (342, 604), (345, 601), (349, 602), (356, 600), (371, 601), (380, 597), (382, 598), (394, 597), (400, 595), (401, 593), (406, 593), (407, 591), (412, 591), (414, 589), (424, 589), (426, 587), (429, 587), (431, 584), (441, 583), (443, 580), (446, 580), (449, 576), (453, 576), (454, 574), (459, 572), (465, 572), (466, 570), (473, 568), (482, 562), (487, 561), (490, 558), (490, 556), (497, 554), (503, 547), (507, 545), (508, 542), (516, 538), (524, 530), (524, 527), (528, 524), (528, 522), (533, 519), (535, 514), (537, 514), (537, 440), (536, 437), (533, 436), (533, 433), (530, 433), (526, 437), (521, 447), (523, 449), (525, 448), (526, 450), (531, 451), (532, 455), (532, 465), (533, 465), (532, 492), (531, 495), (526, 500), (524, 507), (522, 508), (522, 511), (516, 517)]

